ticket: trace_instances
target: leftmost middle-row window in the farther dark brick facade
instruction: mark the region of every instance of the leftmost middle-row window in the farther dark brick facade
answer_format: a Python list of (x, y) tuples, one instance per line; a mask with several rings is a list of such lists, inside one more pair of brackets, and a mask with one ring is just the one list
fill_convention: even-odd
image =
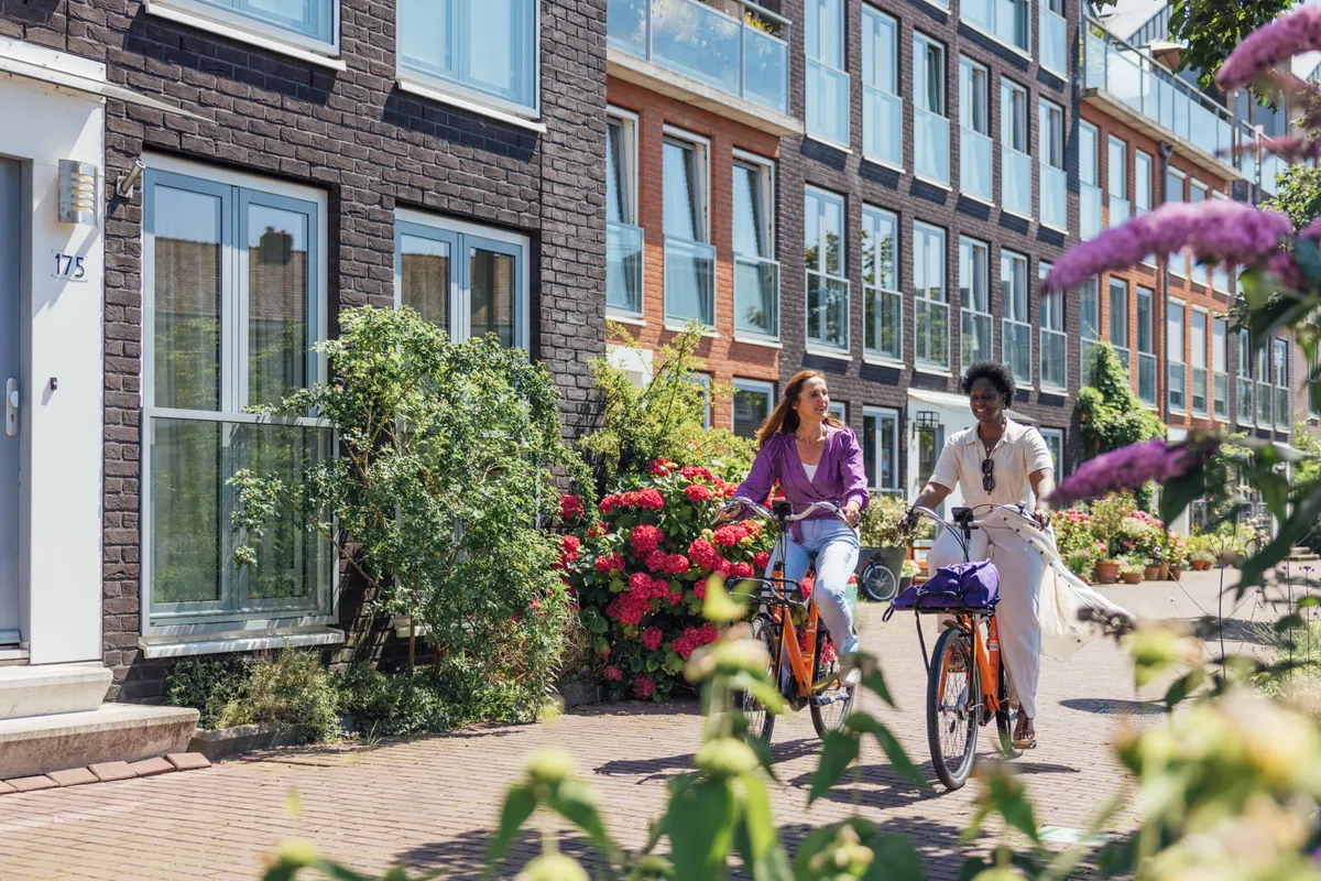
[(807, 346), (848, 351), (844, 277), (844, 197), (808, 186), (803, 211), (807, 265)]

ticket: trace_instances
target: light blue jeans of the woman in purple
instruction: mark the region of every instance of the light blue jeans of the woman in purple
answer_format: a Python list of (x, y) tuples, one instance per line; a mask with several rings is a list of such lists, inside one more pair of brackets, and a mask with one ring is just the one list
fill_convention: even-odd
[[(812, 602), (820, 613), (826, 629), (840, 655), (857, 651), (857, 634), (853, 633), (853, 613), (844, 598), (848, 580), (857, 568), (857, 532), (839, 520), (802, 520), (803, 540), (786, 543), (785, 577), (798, 584), (807, 575), (810, 555), (816, 553), (816, 579), (812, 584)], [(775, 556), (766, 569), (769, 576), (775, 568)]]

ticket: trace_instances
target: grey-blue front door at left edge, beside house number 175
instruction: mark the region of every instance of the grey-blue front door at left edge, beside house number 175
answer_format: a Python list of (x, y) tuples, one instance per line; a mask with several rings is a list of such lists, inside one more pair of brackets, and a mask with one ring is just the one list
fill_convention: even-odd
[(0, 645), (18, 634), (18, 317), (21, 314), (21, 166), (0, 160)]

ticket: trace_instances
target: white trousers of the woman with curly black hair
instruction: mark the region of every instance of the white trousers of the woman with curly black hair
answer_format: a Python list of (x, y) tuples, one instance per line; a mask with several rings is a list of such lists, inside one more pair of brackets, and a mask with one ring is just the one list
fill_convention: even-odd
[[(1046, 561), (1036, 547), (1011, 528), (992, 526), (972, 531), (968, 559), (989, 559), (1000, 572), (1000, 656), (1009, 679), (1009, 703), (1028, 719), (1037, 717), (1037, 679), (1041, 674), (1041, 579)], [(959, 536), (941, 534), (927, 552), (926, 571), (963, 563)]]

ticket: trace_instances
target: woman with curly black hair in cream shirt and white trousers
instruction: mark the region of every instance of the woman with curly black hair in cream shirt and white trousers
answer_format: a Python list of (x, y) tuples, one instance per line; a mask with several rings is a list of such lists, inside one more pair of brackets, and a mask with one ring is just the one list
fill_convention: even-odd
[[(1042, 530), (1050, 524), (1045, 499), (1055, 489), (1050, 448), (1036, 428), (1020, 425), (1005, 411), (1013, 404), (1013, 375), (1008, 367), (979, 361), (963, 374), (963, 392), (978, 424), (951, 437), (927, 485), (913, 502), (934, 509), (958, 487), (963, 503), (1026, 505)], [(970, 548), (972, 560), (995, 560), (1000, 571), (1000, 651), (1009, 672), (1009, 701), (1018, 708), (1013, 744), (1036, 746), (1037, 676), (1041, 670), (1041, 622), (1037, 617), (1042, 553), (1012, 530), (978, 530)], [(927, 553), (927, 571), (963, 563), (963, 548), (951, 532)]]

